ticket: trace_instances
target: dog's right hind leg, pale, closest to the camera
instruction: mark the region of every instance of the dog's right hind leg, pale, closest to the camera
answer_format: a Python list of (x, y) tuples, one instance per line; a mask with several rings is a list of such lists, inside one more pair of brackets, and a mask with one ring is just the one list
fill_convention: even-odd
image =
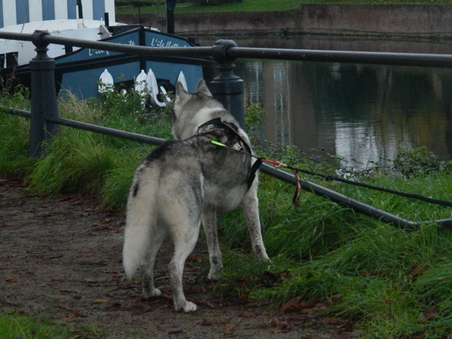
[(196, 305), (185, 299), (182, 275), (184, 273), (186, 258), (188, 258), (195, 248), (200, 232), (200, 217), (197, 217), (197, 222), (191, 222), (190, 219), (190, 217), (179, 218), (177, 227), (172, 229), (175, 253), (172, 256), (170, 265), (168, 265), (175, 309), (176, 311), (184, 311), (186, 313), (196, 311)]

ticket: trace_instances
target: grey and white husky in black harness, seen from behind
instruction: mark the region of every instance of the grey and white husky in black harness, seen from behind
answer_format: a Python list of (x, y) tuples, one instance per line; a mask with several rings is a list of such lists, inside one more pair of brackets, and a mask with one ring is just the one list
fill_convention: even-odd
[(175, 309), (192, 312), (196, 305), (185, 299), (182, 273), (201, 223), (209, 248), (209, 279), (220, 278), (223, 271), (216, 213), (241, 206), (256, 258), (268, 261), (268, 256), (259, 222), (257, 177), (248, 179), (255, 159), (234, 150), (251, 152), (248, 135), (213, 99), (203, 79), (195, 94), (177, 83), (173, 110), (172, 134), (177, 141), (152, 151), (136, 170), (127, 202), (122, 261), (129, 279), (140, 268), (147, 296), (160, 295), (154, 287), (154, 261), (170, 233), (174, 255), (168, 269)]

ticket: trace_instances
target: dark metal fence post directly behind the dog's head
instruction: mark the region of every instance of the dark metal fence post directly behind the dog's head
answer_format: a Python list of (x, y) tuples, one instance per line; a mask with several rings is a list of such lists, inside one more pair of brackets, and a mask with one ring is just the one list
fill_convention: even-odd
[(243, 108), (243, 80), (236, 76), (233, 69), (236, 67), (235, 58), (227, 56), (229, 47), (237, 47), (232, 40), (218, 40), (213, 44), (213, 59), (218, 63), (220, 75), (210, 83), (213, 97), (220, 101), (245, 129), (245, 110)]

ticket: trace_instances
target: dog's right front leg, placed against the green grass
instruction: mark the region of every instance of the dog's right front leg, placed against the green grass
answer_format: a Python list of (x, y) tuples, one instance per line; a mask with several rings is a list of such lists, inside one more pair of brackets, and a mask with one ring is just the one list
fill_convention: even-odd
[(262, 240), (261, 221), (259, 220), (259, 200), (257, 199), (257, 179), (250, 187), (242, 201), (243, 215), (245, 215), (248, 231), (250, 232), (252, 250), (260, 261), (269, 261)]

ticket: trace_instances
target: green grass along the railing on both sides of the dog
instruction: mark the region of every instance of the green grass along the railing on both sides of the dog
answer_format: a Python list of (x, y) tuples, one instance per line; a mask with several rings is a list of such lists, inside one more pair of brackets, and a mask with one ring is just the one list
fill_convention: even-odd
[[(28, 105), (21, 94), (4, 95), (1, 101), (4, 106)], [(170, 113), (144, 109), (139, 101), (118, 94), (102, 102), (66, 95), (59, 110), (61, 117), (170, 138)], [(257, 122), (259, 108), (248, 112), (248, 121)], [(30, 190), (47, 195), (94, 194), (105, 206), (124, 209), (134, 171), (152, 147), (62, 127), (47, 156), (30, 160), (28, 124), (24, 118), (0, 113), (1, 179), (20, 177)], [(255, 148), (268, 158), (325, 174), (339, 168), (337, 159), (318, 163), (292, 147)], [(437, 199), (452, 196), (450, 164), (439, 163), (425, 149), (402, 152), (393, 172), (376, 166), (353, 175), (373, 185)], [(218, 291), (248, 300), (268, 299), (274, 307), (296, 298), (326, 301), (323, 317), (352, 320), (360, 338), (451, 336), (452, 233), (428, 222), (452, 217), (451, 210), (341, 183), (318, 183), (424, 223), (419, 231), (401, 231), (307, 192), (302, 192), (296, 208), (291, 205), (291, 186), (261, 175), (261, 222), (272, 263), (252, 260), (240, 212), (220, 217), (225, 276)]]

